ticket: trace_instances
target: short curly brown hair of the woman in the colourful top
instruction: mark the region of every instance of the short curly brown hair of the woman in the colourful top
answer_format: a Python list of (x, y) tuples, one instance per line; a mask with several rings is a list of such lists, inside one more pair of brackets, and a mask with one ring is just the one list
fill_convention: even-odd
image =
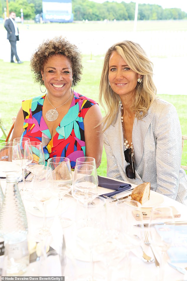
[(39, 45), (35, 53), (32, 55), (30, 60), (30, 67), (33, 71), (33, 78), (35, 82), (39, 82), (44, 85), (42, 80), (41, 69), (43, 70), (47, 59), (53, 55), (66, 56), (71, 63), (73, 71), (73, 84), (77, 85), (81, 81), (82, 74), (82, 55), (77, 46), (71, 44), (66, 38), (61, 36), (55, 37), (53, 39), (44, 40), (42, 44)]

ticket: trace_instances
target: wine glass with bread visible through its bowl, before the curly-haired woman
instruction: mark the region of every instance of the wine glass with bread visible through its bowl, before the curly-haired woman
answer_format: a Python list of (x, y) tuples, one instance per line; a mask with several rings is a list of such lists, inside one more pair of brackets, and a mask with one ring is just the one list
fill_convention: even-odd
[[(48, 159), (47, 167), (53, 170), (53, 184), (54, 189), (57, 192), (60, 200), (59, 209), (63, 203), (63, 197), (72, 188), (72, 173), (70, 160), (67, 157), (53, 157)], [(69, 218), (61, 217), (60, 222), (63, 227), (68, 227), (71, 225), (72, 221)]]

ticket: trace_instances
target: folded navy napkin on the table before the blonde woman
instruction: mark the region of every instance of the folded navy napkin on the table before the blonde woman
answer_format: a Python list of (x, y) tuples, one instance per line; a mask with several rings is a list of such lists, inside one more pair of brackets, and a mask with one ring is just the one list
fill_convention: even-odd
[[(118, 194), (122, 191), (126, 191), (131, 188), (131, 185), (129, 183), (123, 183), (120, 181), (111, 180), (110, 178), (104, 178), (104, 177), (98, 176), (98, 181), (99, 181), (100, 187), (115, 189), (112, 192), (103, 194), (103, 195), (106, 195), (109, 197), (114, 196), (115, 194)], [(101, 196), (104, 197), (103, 195), (101, 195)]]

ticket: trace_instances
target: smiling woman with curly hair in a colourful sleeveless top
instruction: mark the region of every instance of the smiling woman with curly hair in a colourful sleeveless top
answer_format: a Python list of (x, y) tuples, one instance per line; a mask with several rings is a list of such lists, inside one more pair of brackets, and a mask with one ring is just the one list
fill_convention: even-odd
[(46, 161), (68, 157), (74, 168), (78, 157), (90, 156), (99, 167), (103, 143), (98, 124), (102, 116), (94, 100), (74, 91), (83, 69), (78, 48), (62, 37), (46, 40), (30, 65), (35, 81), (45, 85), (47, 92), (22, 102), (12, 140), (29, 137), (42, 142)]

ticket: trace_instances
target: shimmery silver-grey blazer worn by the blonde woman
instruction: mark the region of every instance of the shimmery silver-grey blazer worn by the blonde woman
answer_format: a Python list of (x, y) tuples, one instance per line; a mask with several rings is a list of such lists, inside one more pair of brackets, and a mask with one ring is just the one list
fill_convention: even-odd
[(140, 184), (187, 205), (187, 175), (181, 166), (181, 126), (175, 107), (155, 99), (141, 120), (134, 119), (132, 143), (136, 179), (126, 176), (121, 111), (104, 133), (107, 176)]

